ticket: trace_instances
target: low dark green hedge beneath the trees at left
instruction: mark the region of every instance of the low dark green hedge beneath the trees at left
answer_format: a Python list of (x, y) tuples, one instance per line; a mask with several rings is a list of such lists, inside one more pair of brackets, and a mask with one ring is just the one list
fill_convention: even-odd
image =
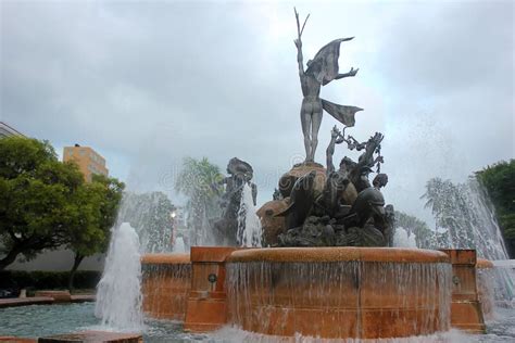
[[(74, 288), (95, 289), (102, 274), (96, 270), (77, 270), (74, 277)], [(1, 288), (20, 288), (37, 290), (67, 289), (70, 271), (0, 271)]]

